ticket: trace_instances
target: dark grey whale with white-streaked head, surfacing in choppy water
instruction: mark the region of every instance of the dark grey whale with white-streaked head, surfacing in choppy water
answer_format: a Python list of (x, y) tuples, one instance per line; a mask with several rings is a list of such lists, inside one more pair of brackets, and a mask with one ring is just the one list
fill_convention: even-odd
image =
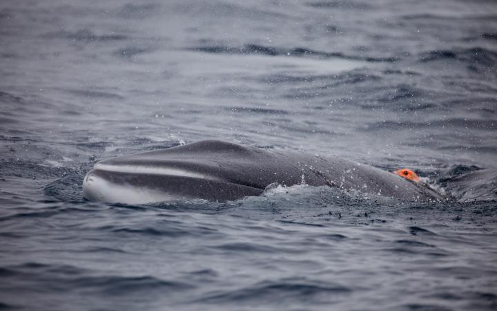
[(97, 162), (84, 178), (83, 195), (124, 204), (221, 202), (260, 196), (273, 185), (311, 185), (402, 200), (440, 199), (422, 183), (399, 175), (339, 157), (204, 140)]

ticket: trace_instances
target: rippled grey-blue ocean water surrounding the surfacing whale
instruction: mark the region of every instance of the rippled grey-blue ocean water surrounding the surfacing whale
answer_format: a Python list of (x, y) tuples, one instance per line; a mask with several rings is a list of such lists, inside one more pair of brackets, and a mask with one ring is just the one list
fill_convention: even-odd
[[(497, 308), (494, 1), (1, 1), (0, 111), (0, 309)], [(204, 139), (447, 200), (81, 195), (98, 160)]]

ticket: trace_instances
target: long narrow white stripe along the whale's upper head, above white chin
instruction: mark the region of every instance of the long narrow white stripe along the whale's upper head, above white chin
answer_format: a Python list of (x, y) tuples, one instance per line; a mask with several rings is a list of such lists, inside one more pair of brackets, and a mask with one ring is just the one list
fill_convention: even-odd
[(188, 171), (186, 169), (173, 169), (170, 167), (155, 167), (144, 165), (115, 165), (115, 164), (101, 164), (95, 165), (95, 169), (100, 171), (115, 171), (119, 173), (139, 173), (139, 174), (154, 174), (166, 176), (178, 176), (189, 178), (201, 178), (206, 180), (224, 181), (222, 178), (209, 176), (195, 171)]

